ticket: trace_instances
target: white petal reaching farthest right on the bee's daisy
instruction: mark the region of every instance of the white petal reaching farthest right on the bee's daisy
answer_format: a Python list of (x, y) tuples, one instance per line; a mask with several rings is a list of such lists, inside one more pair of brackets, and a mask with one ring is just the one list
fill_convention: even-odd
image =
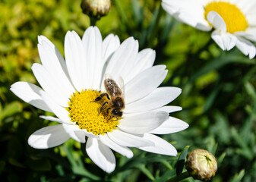
[(188, 128), (188, 124), (184, 121), (177, 118), (169, 117), (168, 120), (164, 121), (163, 124), (161, 124), (156, 129), (150, 131), (150, 133), (169, 134), (185, 130), (186, 128)]

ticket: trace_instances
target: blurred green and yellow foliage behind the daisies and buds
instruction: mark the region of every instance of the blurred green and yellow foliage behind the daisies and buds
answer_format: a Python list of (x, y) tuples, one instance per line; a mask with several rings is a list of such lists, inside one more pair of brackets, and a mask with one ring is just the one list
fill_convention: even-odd
[[(115, 153), (112, 174), (97, 168), (68, 140), (54, 149), (33, 149), (27, 138), (49, 124), (45, 115), (9, 90), (16, 81), (36, 83), (30, 69), (40, 63), (37, 36), (48, 37), (64, 55), (68, 30), (80, 36), (90, 26), (80, 0), (2, 0), (0, 2), (0, 176), (1, 181), (166, 181), (175, 176), (177, 157), (133, 149), (134, 158)], [(160, 1), (115, 0), (96, 22), (103, 37), (134, 36), (140, 49), (156, 50), (155, 64), (166, 64), (163, 86), (179, 86), (182, 94), (170, 105), (183, 110), (172, 116), (190, 127), (163, 135), (178, 152), (185, 146), (207, 149), (218, 159), (218, 181), (256, 181), (256, 65), (238, 49), (223, 52), (210, 33), (172, 19)], [(38, 85), (38, 83), (36, 83)], [(46, 114), (47, 115), (47, 114)], [(185, 171), (185, 169), (184, 169)], [(191, 177), (185, 181), (195, 181)]]

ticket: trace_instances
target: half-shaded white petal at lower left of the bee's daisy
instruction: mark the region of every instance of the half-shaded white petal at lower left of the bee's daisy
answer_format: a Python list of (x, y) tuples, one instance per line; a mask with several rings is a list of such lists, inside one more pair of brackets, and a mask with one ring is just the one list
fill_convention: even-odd
[(28, 144), (35, 149), (49, 149), (65, 143), (69, 138), (62, 124), (57, 124), (36, 130), (36, 132), (31, 134), (28, 138)]

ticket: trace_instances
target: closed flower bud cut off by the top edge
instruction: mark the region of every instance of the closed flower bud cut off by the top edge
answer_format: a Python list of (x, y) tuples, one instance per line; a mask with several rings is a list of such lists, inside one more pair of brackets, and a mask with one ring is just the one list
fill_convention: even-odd
[(110, 0), (82, 0), (81, 2), (83, 13), (95, 18), (100, 18), (108, 14), (110, 7)]

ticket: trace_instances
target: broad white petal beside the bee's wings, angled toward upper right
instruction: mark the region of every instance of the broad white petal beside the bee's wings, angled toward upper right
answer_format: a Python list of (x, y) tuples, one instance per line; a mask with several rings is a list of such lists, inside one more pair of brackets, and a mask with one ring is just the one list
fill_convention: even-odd
[(125, 104), (150, 94), (166, 77), (165, 65), (150, 67), (125, 84)]

